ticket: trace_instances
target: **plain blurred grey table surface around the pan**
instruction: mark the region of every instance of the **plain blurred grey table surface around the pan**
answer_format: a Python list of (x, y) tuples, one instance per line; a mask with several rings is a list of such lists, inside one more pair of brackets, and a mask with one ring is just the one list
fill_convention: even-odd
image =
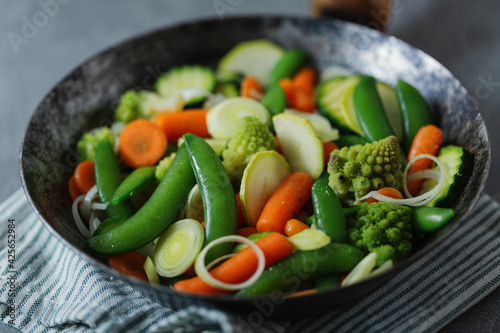
[[(57, 2), (56, 2), (57, 1)], [(500, 2), (394, 0), (388, 33), (447, 67), (478, 101), (492, 142), (485, 192), (500, 201)], [(213, 1), (0, 0), (0, 202), (20, 186), (18, 154), (29, 118), (61, 78), (97, 52), (160, 27), (216, 17)], [(239, 4), (238, 4), (239, 3)], [(306, 0), (241, 0), (227, 15), (308, 15)], [(36, 23), (36, 25), (35, 25)], [(17, 38), (17, 39), (15, 39)], [(496, 332), (500, 290), (443, 332)], [(0, 323), (0, 331), (8, 327)]]

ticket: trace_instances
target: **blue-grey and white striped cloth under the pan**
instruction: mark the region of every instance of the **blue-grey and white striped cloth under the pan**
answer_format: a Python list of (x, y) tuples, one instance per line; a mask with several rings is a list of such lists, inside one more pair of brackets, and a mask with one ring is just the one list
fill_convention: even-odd
[(0, 216), (0, 315), (23, 332), (435, 332), (500, 284), (500, 209), (487, 195), (449, 239), (363, 299), (258, 327), (214, 309), (176, 312), (111, 278), (52, 236), (21, 190)]

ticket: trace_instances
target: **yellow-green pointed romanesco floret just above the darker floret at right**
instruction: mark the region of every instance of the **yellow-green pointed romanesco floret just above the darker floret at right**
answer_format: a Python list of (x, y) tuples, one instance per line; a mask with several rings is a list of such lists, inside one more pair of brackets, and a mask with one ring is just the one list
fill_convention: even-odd
[(403, 172), (399, 142), (395, 136), (380, 141), (343, 147), (332, 152), (328, 162), (329, 184), (343, 204), (382, 187), (402, 188)]

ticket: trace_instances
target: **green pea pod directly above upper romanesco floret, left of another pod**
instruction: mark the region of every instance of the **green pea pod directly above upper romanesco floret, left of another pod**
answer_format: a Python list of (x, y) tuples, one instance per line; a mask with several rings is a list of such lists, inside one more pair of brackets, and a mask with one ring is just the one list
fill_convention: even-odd
[(353, 92), (354, 109), (359, 125), (371, 142), (394, 135), (377, 92), (376, 83), (373, 77), (365, 76)]

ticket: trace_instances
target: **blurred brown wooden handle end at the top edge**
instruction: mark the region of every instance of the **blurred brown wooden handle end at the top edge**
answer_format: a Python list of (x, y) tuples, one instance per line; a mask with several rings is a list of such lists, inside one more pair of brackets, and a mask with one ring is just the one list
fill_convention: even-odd
[(315, 17), (338, 18), (384, 31), (391, 17), (391, 0), (312, 0)]

